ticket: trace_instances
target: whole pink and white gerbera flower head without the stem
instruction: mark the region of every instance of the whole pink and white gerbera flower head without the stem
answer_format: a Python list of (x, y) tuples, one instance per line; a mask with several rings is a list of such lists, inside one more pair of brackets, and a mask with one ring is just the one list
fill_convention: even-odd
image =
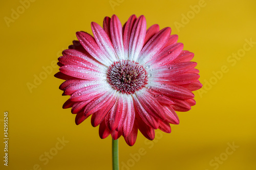
[(200, 89), (199, 70), (183, 51), (171, 29), (158, 25), (146, 29), (143, 15), (132, 15), (122, 27), (116, 15), (105, 17), (103, 28), (91, 24), (93, 36), (77, 32), (78, 41), (59, 57), (55, 77), (70, 99), (63, 108), (76, 114), (80, 124), (91, 116), (99, 135), (121, 135), (133, 145), (139, 131), (150, 140), (155, 129), (170, 133), (179, 124), (175, 111), (188, 111), (196, 104), (191, 91)]

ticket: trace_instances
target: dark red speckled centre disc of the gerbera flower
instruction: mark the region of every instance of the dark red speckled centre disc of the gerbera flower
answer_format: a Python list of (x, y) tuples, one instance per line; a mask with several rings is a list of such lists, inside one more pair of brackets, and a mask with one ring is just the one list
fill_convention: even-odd
[(126, 94), (133, 94), (147, 84), (144, 67), (129, 60), (114, 62), (109, 67), (106, 78), (114, 89)]

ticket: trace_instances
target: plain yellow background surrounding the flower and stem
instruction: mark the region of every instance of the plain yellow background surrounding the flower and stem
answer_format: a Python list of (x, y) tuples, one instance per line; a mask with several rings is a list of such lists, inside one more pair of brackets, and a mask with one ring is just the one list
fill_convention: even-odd
[[(8, 111), (10, 138), (8, 167), (3, 165), (0, 144), (1, 169), (111, 169), (111, 137), (100, 139), (90, 119), (76, 126), (75, 115), (61, 108), (68, 97), (61, 96), (58, 87), (63, 81), (53, 77), (58, 68), (51, 62), (76, 39), (76, 31), (91, 33), (91, 21), (102, 26), (103, 18), (113, 14), (122, 23), (132, 14), (143, 14), (147, 28), (155, 23), (171, 27), (184, 50), (195, 53), (203, 85), (214, 82), (195, 92), (197, 105), (178, 113), (180, 125), (173, 126), (172, 133), (157, 131), (153, 143), (139, 133), (133, 147), (120, 138), (120, 169), (256, 169), (256, 44), (250, 50), (245, 45), (247, 51), (236, 64), (227, 61), (232, 53), (243, 52), (245, 39), (256, 42), (256, 2), (205, 0), (197, 13), (191, 11), (199, 0), (111, 2), (116, 3), (113, 8), (109, 0), (37, 0), (24, 11), (18, 0), (1, 2), (0, 127), (4, 129)], [(8, 27), (5, 18), (12, 18), (17, 8), (20, 14)], [(190, 19), (185, 22), (187, 14)], [(221, 71), (223, 65), (228, 71), (217, 79), (213, 71)], [(43, 66), (53, 71), (30, 92), (27, 83), (33, 84)], [(56, 150), (62, 137), (69, 142)], [(230, 154), (229, 144), (239, 148)], [(49, 162), (41, 161), (49, 151), (57, 153)], [(222, 163), (217, 163), (218, 157)]]

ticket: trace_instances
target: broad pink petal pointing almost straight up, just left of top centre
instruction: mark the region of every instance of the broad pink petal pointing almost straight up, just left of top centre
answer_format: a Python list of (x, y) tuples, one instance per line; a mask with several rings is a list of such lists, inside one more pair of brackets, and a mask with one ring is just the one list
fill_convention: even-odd
[(123, 48), (123, 34), (122, 34), (122, 25), (120, 20), (116, 15), (113, 15), (111, 18), (110, 25), (111, 39), (114, 46), (114, 50), (120, 60), (124, 60), (124, 48)]

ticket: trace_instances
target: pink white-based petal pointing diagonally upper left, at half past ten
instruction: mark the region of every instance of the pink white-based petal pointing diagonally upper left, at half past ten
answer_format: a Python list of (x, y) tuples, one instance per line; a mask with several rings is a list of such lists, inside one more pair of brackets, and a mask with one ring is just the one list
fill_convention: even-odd
[(76, 36), (84, 49), (92, 55), (97, 61), (101, 62), (104, 65), (110, 66), (112, 64), (112, 60), (109, 59), (99, 48), (95, 39), (84, 32), (77, 32)]

